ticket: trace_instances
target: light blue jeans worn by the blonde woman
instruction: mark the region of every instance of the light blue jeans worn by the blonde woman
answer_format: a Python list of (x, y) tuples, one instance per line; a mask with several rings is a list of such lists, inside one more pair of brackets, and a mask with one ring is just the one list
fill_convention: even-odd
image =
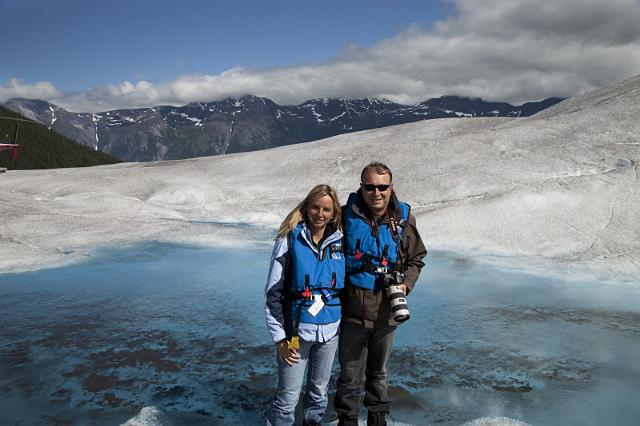
[(300, 361), (293, 366), (285, 364), (276, 354), (278, 391), (271, 410), (267, 414), (267, 425), (293, 424), (305, 370), (307, 370), (307, 385), (302, 398), (304, 419), (320, 422), (327, 409), (327, 388), (331, 378), (333, 359), (338, 348), (338, 339), (336, 335), (324, 343), (300, 340)]

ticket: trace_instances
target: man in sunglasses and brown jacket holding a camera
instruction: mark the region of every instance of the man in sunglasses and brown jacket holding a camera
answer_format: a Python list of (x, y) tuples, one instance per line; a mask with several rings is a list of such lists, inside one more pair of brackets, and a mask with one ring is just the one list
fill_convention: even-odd
[(408, 204), (393, 191), (392, 174), (371, 163), (360, 175), (360, 189), (344, 209), (346, 288), (342, 300), (340, 377), (334, 407), (339, 426), (357, 426), (365, 375), (367, 425), (386, 425), (390, 410), (388, 359), (398, 323), (386, 287), (414, 287), (427, 250)]

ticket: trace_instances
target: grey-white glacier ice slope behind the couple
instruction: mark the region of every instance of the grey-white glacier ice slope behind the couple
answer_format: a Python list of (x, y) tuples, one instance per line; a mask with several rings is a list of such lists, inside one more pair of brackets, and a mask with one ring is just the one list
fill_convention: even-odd
[[(317, 183), (344, 201), (394, 171), (430, 249), (546, 272), (640, 278), (640, 77), (528, 118), (439, 119), (271, 150), (0, 176), (0, 269), (156, 240), (241, 245), (211, 222), (274, 227)], [(242, 228), (244, 229), (244, 228)]]

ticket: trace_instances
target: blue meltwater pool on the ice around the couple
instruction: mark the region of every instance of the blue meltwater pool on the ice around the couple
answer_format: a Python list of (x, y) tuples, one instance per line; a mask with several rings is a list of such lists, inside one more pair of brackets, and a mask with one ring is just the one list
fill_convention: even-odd
[[(0, 276), (2, 421), (261, 423), (276, 384), (262, 311), (270, 251), (146, 243)], [(390, 367), (398, 422), (640, 416), (637, 286), (431, 253), (408, 301)]]

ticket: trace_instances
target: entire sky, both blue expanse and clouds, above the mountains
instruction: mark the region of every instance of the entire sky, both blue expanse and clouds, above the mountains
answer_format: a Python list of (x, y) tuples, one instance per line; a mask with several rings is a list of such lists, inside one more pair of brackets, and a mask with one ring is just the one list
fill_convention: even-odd
[(640, 74), (639, 0), (0, 0), (0, 102), (513, 103)]

